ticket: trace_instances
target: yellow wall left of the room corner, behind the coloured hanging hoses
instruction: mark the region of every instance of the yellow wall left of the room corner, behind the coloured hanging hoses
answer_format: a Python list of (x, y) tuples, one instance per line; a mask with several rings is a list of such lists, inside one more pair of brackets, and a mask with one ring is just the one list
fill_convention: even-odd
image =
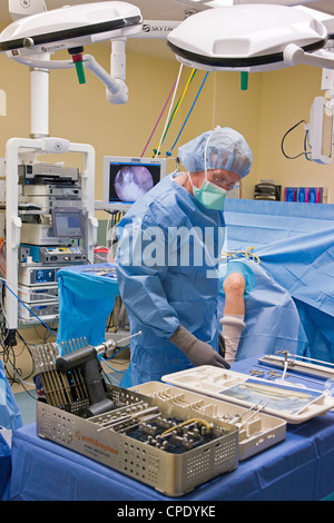
[[(155, 46), (154, 42), (153, 46)], [(107, 71), (110, 70), (109, 43), (89, 46), (85, 51), (91, 53)], [(55, 58), (66, 60), (69, 59), (69, 55), (63, 52)], [(16, 63), (3, 55), (0, 56), (0, 67), (2, 71), (0, 88), (7, 92), (7, 116), (0, 118), (2, 124), (0, 150), (1, 155), (4, 155), (6, 141), (9, 138), (29, 137), (31, 130), (30, 71), (28, 67)], [(78, 83), (75, 70), (50, 71), (49, 134), (76, 142), (91, 144), (95, 147), (96, 199), (102, 197), (104, 156), (140, 156), (144, 152), (179, 69), (180, 65), (174, 57), (159, 59), (148, 55), (127, 52), (126, 83), (129, 89), (129, 99), (127, 103), (120, 106), (108, 103), (105, 86), (90, 71), (86, 70), (85, 85)], [(257, 115), (261, 101), (261, 75), (255, 79), (252, 90), (242, 91), (238, 73), (210, 72), (195, 102), (205, 78), (205, 71), (196, 71), (185, 92), (190, 72), (189, 68), (184, 68), (181, 72), (174, 107), (185, 95), (160, 146), (160, 155), (165, 157), (188, 117), (171, 151), (167, 170), (171, 171), (175, 168), (175, 156), (179, 145), (216, 125), (234, 127), (245, 135), (254, 151), (255, 164), (243, 186), (243, 196), (252, 198), (258, 156), (259, 119)], [(154, 149), (159, 144), (170, 101), (171, 98), (144, 156), (154, 155)], [(57, 155), (43, 159), (81, 166), (80, 155)]]

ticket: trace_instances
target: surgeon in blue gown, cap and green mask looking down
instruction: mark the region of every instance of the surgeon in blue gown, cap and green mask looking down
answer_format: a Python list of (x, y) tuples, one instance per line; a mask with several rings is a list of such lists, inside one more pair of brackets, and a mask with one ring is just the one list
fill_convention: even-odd
[(140, 332), (130, 343), (131, 385), (191, 366), (229, 368), (217, 332), (223, 210), (253, 156), (239, 132), (216, 127), (178, 157), (185, 171), (165, 177), (118, 227), (119, 290), (131, 334)]

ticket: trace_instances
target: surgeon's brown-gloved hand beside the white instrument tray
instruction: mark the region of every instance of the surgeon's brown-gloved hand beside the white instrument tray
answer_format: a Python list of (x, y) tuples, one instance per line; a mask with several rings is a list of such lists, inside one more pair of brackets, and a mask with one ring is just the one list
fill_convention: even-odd
[(200, 342), (181, 325), (169, 338), (187, 358), (198, 367), (199, 365), (214, 365), (215, 367), (229, 368), (229, 364), (205, 342)]

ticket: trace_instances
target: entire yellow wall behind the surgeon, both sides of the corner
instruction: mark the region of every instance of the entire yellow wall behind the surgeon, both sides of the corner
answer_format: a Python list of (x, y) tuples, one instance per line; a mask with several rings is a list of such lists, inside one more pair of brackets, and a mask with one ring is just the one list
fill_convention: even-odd
[[(91, 53), (109, 71), (109, 45), (94, 45), (85, 51)], [(55, 58), (67, 59), (68, 53)], [(104, 85), (90, 71), (86, 71), (87, 83), (84, 86), (79, 86), (73, 70), (50, 72), (50, 135), (95, 147), (96, 199), (102, 197), (102, 157), (141, 155), (179, 67), (174, 59), (161, 60), (128, 51), (126, 76), (129, 100), (121, 106), (108, 103)], [(30, 72), (28, 67), (12, 62), (6, 56), (0, 56), (0, 89), (6, 90), (8, 100), (7, 116), (0, 117), (0, 156), (3, 156), (6, 141), (10, 137), (28, 137), (30, 134)], [(334, 165), (318, 166), (304, 157), (288, 160), (281, 152), (283, 135), (301, 119), (308, 121), (314, 97), (323, 95), (321, 73), (321, 69), (306, 66), (250, 73), (248, 90), (242, 91), (239, 73), (210, 72), (174, 155), (179, 145), (198, 134), (216, 125), (229, 126), (245, 136), (254, 154), (253, 169), (243, 182), (244, 198), (253, 197), (254, 185), (262, 178), (273, 178), (283, 187), (330, 187), (330, 197), (333, 195), (334, 198)], [(189, 75), (190, 69), (185, 68), (176, 100)], [(204, 71), (196, 72), (161, 146), (161, 156), (174, 144), (204, 76)], [(145, 156), (151, 156), (166, 118), (167, 109)], [(287, 154), (294, 156), (302, 152), (303, 142), (304, 129), (301, 126), (286, 139)], [(80, 167), (80, 158), (70, 155), (50, 160), (60, 159), (67, 165)], [(174, 166), (175, 161), (169, 160), (168, 171)]]

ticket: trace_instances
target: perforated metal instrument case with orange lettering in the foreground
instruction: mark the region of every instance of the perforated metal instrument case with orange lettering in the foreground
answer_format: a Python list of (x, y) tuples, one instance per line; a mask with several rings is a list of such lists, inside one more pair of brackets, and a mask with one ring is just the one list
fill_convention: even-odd
[(145, 415), (147, 408), (155, 406), (166, 417), (187, 421), (194, 418), (193, 409), (114, 385), (108, 385), (107, 396), (117, 408), (90, 418), (82, 418), (38, 399), (38, 435), (127, 474), (168, 496), (180, 496), (237, 467), (237, 426), (203, 413), (200, 418), (213, 424), (216, 437), (196, 448), (171, 454), (130, 437), (124, 430), (117, 432), (126, 428), (126, 424), (120, 422), (125, 415), (129, 417), (129, 414), (135, 413), (139, 417), (140, 409)]

